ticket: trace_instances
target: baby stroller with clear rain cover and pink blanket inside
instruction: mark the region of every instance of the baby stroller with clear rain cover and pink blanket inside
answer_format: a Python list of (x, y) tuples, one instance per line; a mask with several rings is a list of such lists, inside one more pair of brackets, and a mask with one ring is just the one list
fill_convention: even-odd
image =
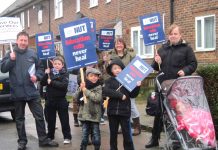
[(162, 94), (163, 125), (168, 150), (217, 149), (215, 129), (200, 76), (185, 76), (156, 84)]

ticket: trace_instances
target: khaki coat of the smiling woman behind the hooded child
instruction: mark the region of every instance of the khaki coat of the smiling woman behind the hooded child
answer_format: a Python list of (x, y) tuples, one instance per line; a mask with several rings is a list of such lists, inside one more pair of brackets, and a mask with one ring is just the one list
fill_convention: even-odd
[(109, 54), (111, 59), (114, 59), (116, 57), (120, 58), (125, 66), (127, 66), (131, 62), (131, 60), (136, 56), (136, 53), (132, 48), (125, 48), (123, 57), (119, 57), (115, 49), (112, 50)]

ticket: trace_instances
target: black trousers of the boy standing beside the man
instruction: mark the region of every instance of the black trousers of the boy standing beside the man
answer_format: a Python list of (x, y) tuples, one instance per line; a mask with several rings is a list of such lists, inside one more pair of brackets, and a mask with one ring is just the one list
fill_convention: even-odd
[(56, 112), (58, 112), (64, 139), (71, 139), (68, 105), (69, 104), (66, 99), (48, 101), (46, 105), (48, 119), (48, 138), (54, 139), (56, 126)]

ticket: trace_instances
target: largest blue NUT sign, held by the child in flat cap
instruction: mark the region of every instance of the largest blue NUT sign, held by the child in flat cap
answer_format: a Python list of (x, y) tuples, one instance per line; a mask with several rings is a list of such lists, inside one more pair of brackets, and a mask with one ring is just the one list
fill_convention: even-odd
[(68, 70), (98, 62), (89, 18), (62, 24), (59, 30)]

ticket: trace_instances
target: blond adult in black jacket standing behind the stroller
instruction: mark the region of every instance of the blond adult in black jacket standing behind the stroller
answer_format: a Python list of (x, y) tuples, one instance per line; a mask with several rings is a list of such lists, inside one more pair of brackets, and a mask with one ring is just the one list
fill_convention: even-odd
[[(159, 67), (160, 66), (160, 67)], [(192, 48), (182, 39), (181, 28), (172, 24), (168, 29), (168, 41), (163, 44), (155, 55), (152, 67), (164, 75), (159, 82), (191, 75), (197, 68), (197, 60)], [(156, 88), (156, 87), (155, 87)], [(155, 116), (152, 137), (146, 148), (159, 146), (160, 133), (163, 127), (161, 114)]]

